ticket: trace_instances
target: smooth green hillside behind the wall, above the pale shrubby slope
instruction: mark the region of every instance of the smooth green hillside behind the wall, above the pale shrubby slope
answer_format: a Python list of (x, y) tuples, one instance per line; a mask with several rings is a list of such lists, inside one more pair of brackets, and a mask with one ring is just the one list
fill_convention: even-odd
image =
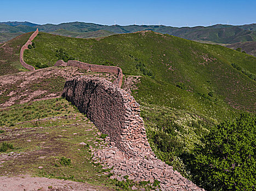
[(256, 58), (223, 46), (154, 32), (112, 35), (98, 41), (39, 33), (34, 41), (36, 49), (25, 51), (25, 61), (34, 66), (37, 62), (54, 65), (59, 59), (56, 51), (61, 48), (79, 61), (118, 65), (124, 74), (144, 76), (135, 95), (141, 103), (214, 118), (226, 116), (230, 108), (255, 109), (255, 81), (231, 63), (255, 74)]

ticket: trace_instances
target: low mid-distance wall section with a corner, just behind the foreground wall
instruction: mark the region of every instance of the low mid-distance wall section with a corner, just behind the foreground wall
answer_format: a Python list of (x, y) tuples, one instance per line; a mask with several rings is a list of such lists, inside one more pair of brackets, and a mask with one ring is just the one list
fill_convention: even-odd
[(61, 67), (67, 67), (67, 66), (72, 66), (72, 67), (78, 67), (81, 69), (86, 69), (88, 71), (94, 71), (94, 72), (103, 72), (103, 73), (112, 73), (116, 74), (116, 80), (113, 82), (116, 86), (121, 87), (122, 86), (122, 81), (123, 81), (123, 73), (122, 69), (119, 67), (113, 67), (109, 65), (96, 65), (96, 64), (88, 64), (84, 62), (79, 62), (79, 61), (57, 61), (54, 64), (55, 67), (61, 66)]

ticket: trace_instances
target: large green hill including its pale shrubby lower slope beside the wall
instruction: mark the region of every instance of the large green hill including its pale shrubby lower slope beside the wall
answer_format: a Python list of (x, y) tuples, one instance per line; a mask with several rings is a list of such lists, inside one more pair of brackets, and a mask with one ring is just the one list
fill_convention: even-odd
[[(29, 34), (13, 44), (25, 37)], [(39, 32), (33, 42), (35, 48), (26, 50), (24, 59), (36, 68), (52, 67), (61, 52), (78, 61), (121, 67), (124, 81), (139, 76), (131, 89), (152, 150), (198, 185), (186, 162), (196, 145), (203, 145), (214, 124), (243, 112), (255, 116), (256, 58), (246, 53), (152, 31), (99, 39)], [(5, 74), (7, 68), (2, 66)]]

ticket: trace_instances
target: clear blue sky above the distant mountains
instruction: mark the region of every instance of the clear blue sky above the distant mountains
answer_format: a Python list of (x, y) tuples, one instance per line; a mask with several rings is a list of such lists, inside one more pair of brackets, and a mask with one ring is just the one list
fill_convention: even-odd
[(37, 24), (93, 22), (101, 25), (209, 26), (256, 23), (256, 0), (87, 1), (0, 0), (0, 21)]

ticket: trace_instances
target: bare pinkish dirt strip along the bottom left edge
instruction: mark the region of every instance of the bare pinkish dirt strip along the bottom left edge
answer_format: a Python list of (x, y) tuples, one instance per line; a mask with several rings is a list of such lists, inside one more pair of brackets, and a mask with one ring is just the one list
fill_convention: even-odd
[(0, 177), (0, 191), (32, 191), (32, 190), (58, 190), (58, 191), (85, 191), (109, 190), (105, 187), (92, 186), (87, 183), (49, 179), (42, 177)]

